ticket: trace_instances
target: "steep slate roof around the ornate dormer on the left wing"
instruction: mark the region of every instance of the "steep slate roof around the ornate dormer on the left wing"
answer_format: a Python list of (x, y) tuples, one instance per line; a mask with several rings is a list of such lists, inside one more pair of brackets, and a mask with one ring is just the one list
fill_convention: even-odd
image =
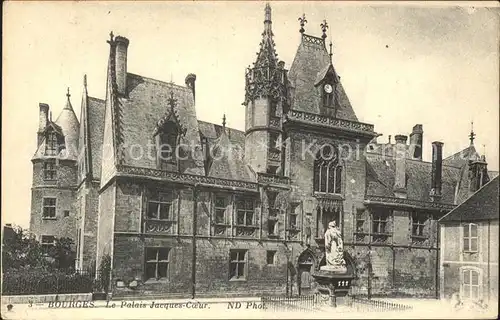
[[(167, 101), (173, 93), (176, 104), (174, 112), (180, 125), (186, 129), (181, 137), (181, 144), (200, 146), (198, 121), (194, 107), (194, 98), (191, 89), (173, 83), (167, 83), (139, 76), (127, 74), (126, 99), (119, 98), (119, 126), (121, 144), (125, 147), (123, 163), (138, 167), (156, 167), (155, 157), (134, 156), (130, 146), (155, 145), (154, 132), (158, 121), (172, 110)], [(183, 168), (184, 173), (204, 174), (201, 150), (185, 149), (188, 152), (199, 152), (200, 155), (188, 156)], [(155, 152), (150, 148), (150, 152)]]

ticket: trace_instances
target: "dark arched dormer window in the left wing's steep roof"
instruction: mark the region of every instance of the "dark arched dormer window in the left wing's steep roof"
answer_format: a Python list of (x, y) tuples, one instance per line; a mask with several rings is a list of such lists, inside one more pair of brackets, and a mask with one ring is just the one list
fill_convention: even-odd
[(160, 168), (169, 170), (171, 165), (177, 164), (179, 127), (176, 123), (169, 121), (163, 125), (158, 136)]

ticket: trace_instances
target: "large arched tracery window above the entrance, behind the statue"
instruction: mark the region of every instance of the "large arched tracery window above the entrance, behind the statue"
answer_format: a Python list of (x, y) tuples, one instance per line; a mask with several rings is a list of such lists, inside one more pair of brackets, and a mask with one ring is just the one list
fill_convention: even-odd
[(314, 191), (342, 193), (342, 166), (338, 152), (332, 146), (323, 146), (314, 160)]

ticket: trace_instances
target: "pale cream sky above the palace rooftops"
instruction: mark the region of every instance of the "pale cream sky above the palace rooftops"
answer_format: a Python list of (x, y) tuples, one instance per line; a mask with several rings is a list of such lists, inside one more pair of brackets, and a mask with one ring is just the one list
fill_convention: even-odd
[[(195, 73), (200, 120), (243, 130), (244, 71), (255, 61), (264, 2), (4, 2), (2, 224), (29, 226), (38, 104), (56, 119), (66, 88), (80, 117), (83, 76), (105, 98), (110, 31), (130, 40), (128, 71), (184, 84)], [(482, 6), (482, 7), (478, 7)], [(498, 170), (499, 7), (417, 2), (273, 2), (276, 50), (290, 68), (306, 33), (329, 25), (333, 63), (360, 121), (388, 136), (424, 130), (444, 156), (475, 145)], [(392, 139), (394, 141), (394, 139)], [(485, 145), (483, 147), (483, 145)]]

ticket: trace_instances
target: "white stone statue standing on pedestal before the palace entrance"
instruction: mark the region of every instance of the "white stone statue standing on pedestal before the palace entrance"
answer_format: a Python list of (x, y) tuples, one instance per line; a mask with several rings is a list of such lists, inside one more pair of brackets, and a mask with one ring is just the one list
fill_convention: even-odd
[(344, 243), (342, 234), (335, 221), (328, 223), (328, 230), (325, 232), (325, 260), (326, 266), (321, 270), (345, 272), (346, 264), (344, 260)]

